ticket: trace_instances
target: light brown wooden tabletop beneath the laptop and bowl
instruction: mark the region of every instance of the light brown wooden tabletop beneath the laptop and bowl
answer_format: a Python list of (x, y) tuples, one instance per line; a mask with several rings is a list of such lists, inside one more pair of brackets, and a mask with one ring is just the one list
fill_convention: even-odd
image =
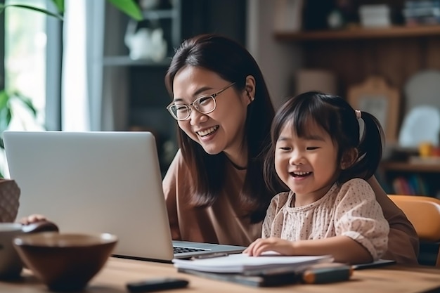
[[(0, 282), (0, 292), (34, 293), (48, 290), (30, 271), (23, 272), (16, 282)], [(249, 287), (231, 282), (208, 280), (194, 275), (177, 273), (168, 263), (110, 258), (103, 270), (86, 287), (86, 293), (127, 292), (125, 283), (146, 278), (178, 277), (190, 281), (186, 289), (167, 292), (440, 292), (440, 269), (418, 266), (386, 266), (354, 271), (351, 280), (323, 285), (289, 285), (283, 287)]]

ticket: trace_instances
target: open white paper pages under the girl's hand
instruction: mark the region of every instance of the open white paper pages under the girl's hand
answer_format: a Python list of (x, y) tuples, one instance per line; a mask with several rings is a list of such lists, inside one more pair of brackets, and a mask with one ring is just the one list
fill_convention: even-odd
[(303, 268), (306, 265), (332, 262), (330, 255), (323, 256), (248, 256), (247, 254), (230, 254), (212, 259), (183, 260), (173, 259), (176, 268), (187, 268), (195, 271), (212, 273), (244, 273), (261, 271), (269, 268)]

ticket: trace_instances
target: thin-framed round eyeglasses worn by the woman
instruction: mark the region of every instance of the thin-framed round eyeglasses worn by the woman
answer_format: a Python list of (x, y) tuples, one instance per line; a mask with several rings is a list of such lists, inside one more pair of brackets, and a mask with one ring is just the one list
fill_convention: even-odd
[(194, 102), (190, 103), (189, 105), (174, 104), (173, 102), (167, 106), (167, 110), (174, 119), (179, 121), (186, 120), (190, 117), (191, 107), (194, 108), (195, 110), (198, 110), (198, 112), (202, 114), (209, 114), (210, 112), (214, 111), (216, 108), (216, 100), (215, 100), (216, 96), (219, 96), (220, 93), (223, 93), (234, 84), (235, 82), (229, 84), (228, 86), (224, 87), (220, 91), (217, 91), (216, 93), (212, 93), (211, 95), (206, 95), (196, 98)]

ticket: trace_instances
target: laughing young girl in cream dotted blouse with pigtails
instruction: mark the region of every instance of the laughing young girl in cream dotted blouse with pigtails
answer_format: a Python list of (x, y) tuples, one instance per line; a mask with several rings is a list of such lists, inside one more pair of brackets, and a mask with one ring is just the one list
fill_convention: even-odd
[(344, 263), (379, 259), (389, 225), (365, 180), (382, 157), (382, 137), (373, 115), (355, 112), (338, 96), (308, 92), (287, 100), (273, 120), (265, 171), (274, 167), (290, 192), (273, 197), (263, 239), (245, 253), (332, 254)]

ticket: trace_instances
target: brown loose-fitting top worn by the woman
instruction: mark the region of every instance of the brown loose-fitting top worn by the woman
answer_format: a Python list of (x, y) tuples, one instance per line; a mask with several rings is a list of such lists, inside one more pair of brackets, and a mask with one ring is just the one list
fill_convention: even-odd
[[(177, 152), (162, 182), (174, 240), (247, 246), (261, 237), (262, 223), (251, 224), (247, 218), (240, 217), (238, 194), (246, 170), (235, 169), (232, 164), (227, 168), (227, 184), (219, 200), (211, 207), (194, 208), (188, 203), (188, 168), (180, 150)], [(388, 252), (382, 258), (417, 263), (418, 237), (413, 226), (384, 193), (376, 193), (376, 196), (390, 226)]]

